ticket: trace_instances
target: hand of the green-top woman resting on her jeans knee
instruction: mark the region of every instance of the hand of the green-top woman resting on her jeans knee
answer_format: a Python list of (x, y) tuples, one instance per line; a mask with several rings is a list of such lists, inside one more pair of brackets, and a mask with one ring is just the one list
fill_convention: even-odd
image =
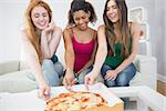
[(117, 77), (117, 71), (116, 70), (108, 70), (106, 71), (106, 75), (104, 77), (106, 80), (115, 80)]

